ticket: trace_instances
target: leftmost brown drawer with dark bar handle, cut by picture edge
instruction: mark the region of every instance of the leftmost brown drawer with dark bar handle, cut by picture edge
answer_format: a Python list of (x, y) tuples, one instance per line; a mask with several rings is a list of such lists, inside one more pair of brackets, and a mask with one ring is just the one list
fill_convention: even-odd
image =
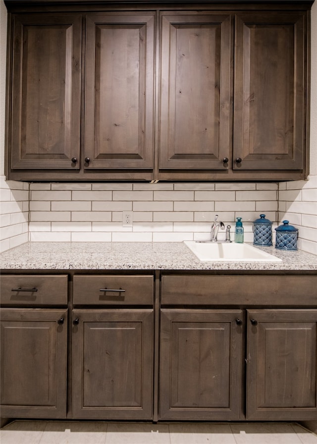
[(66, 305), (67, 275), (1, 276), (3, 305)]

